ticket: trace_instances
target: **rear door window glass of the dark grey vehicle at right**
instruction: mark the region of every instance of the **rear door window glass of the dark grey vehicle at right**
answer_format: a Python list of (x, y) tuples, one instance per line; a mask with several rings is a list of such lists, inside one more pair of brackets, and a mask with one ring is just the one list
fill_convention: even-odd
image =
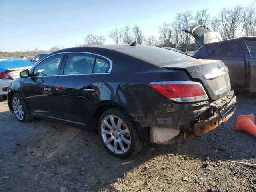
[(223, 57), (243, 57), (244, 50), (240, 42), (230, 42), (220, 44), (219, 56)]

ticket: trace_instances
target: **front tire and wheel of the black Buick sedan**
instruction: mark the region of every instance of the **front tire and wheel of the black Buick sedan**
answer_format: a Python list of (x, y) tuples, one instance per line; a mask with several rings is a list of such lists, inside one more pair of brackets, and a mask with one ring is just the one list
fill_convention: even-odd
[(12, 108), (14, 115), (20, 122), (25, 123), (34, 119), (34, 117), (29, 114), (26, 103), (20, 98), (18, 93), (14, 93), (12, 96)]

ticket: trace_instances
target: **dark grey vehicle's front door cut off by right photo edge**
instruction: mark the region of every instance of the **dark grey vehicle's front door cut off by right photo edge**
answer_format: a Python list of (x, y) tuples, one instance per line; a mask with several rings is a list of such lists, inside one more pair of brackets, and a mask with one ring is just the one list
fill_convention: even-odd
[(250, 80), (250, 92), (256, 92), (256, 39), (245, 38), (246, 43), (246, 74)]

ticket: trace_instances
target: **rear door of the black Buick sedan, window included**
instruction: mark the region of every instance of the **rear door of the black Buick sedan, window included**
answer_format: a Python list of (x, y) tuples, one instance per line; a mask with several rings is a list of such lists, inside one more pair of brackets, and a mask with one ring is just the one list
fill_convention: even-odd
[(54, 83), (55, 108), (60, 119), (88, 125), (90, 112), (108, 75), (111, 60), (84, 52), (69, 52), (61, 74)]

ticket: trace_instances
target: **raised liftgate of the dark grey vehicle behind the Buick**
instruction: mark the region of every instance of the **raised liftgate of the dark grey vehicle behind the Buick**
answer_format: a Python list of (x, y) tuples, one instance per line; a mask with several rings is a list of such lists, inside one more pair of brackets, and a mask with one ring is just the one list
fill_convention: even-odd
[(220, 33), (211, 31), (208, 27), (202, 25), (189, 26), (182, 29), (182, 31), (192, 35), (199, 47), (222, 40)]

